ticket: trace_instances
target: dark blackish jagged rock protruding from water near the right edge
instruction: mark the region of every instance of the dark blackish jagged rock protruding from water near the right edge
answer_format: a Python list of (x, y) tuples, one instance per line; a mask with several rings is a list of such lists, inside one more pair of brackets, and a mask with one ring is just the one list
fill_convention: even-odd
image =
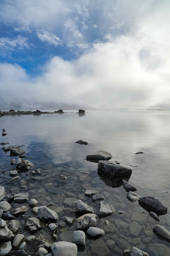
[(168, 208), (163, 206), (158, 199), (152, 196), (140, 197), (139, 204), (147, 211), (153, 211), (157, 215), (163, 215), (167, 213)]

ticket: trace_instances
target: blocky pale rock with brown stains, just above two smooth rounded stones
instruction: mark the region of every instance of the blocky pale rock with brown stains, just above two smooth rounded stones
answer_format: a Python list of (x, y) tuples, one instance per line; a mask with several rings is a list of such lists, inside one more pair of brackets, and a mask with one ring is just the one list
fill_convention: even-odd
[(77, 229), (88, 229), (89, 227), (95, 227), (96, 221), (96, 214), (84, 214), (77, 218)]

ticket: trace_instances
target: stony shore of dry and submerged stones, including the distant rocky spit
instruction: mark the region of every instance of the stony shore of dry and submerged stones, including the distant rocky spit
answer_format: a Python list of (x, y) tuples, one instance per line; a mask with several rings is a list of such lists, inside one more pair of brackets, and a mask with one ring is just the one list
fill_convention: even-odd
[[(40, 112), (0, 112), (19, 114)], [(2, 132), (8, 134), (5, 127)], [(49, 164), (41, 157), (29, 161), (22, 145), (1, 146), (11, 161), (0, 166), (0, 256), (170, 255), (164, 202), (138, 195), (127, 178), (133, 169), (108, 162), (110, 153), (89, 152), (83, 164)]]

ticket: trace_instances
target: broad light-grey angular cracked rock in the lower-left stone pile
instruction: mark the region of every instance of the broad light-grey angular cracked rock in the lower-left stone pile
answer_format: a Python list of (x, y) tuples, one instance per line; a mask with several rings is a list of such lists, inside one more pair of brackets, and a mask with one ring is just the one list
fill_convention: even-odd
[(58, 214), (46, 206), (39, 207), (37, 215), (44, 221), (56, 222), (58, 220)]

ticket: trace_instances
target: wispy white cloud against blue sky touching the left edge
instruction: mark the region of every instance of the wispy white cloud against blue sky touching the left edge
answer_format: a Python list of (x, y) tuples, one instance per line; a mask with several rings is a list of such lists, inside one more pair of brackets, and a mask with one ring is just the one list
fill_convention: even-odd
[(29, 39), (18, 35), (16, 38), (8, 38), (8, 37), (1, 37), (0, 38), (0, 48), (3, 49), (10, 49), (14, 50), (14, 48), (19, 48), (19, 49), (29, 49)]

